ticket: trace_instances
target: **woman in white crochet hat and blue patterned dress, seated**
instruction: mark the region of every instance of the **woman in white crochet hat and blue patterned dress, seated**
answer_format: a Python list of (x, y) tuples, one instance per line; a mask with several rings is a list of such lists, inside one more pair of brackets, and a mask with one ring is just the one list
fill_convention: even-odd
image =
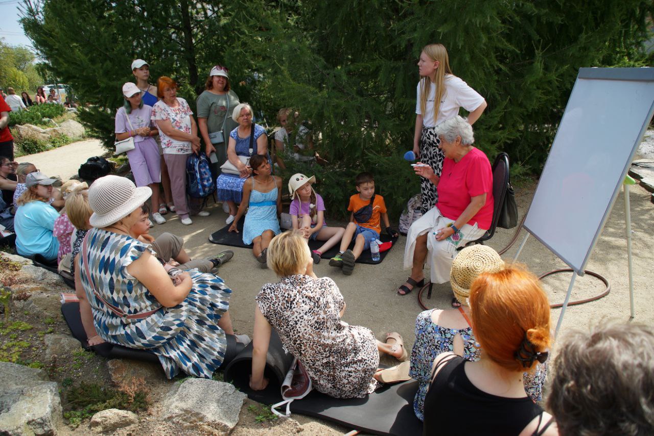
[[(107, 175), (88, 192), (93, 210), (75, 268), (84, 293), (80, 316), (89, 344), (111, 342), (156, 354), (168, 378), (211, 378), (247, 336), (233, 336), (232, 290), (198, 270), (165, 268), (152, 246), (129, 236), (150, 187)], [(237, 342), (241, 342), (238, 344)]]

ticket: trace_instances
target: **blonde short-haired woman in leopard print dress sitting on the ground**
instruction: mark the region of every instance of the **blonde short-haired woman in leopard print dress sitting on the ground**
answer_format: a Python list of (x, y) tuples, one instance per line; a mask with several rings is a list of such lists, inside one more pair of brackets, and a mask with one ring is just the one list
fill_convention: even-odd
[[(341, 321), (345, 301), (330, 278), (317, 278), (309, 245), (297, 230), (275, 236), (268, 267), (281, 277), (256, 297), (250, 388), (266, 388), (264, 378), (271, 327), (284, 348), (309, 373), (313, 387), (336, 398), (362, 398), (380, 384), (374, 375), (379, 352), (406, 358), (402, 338), (383, 343), (366, 327)], [(393, 338), (390, 338), (393, 340)]]

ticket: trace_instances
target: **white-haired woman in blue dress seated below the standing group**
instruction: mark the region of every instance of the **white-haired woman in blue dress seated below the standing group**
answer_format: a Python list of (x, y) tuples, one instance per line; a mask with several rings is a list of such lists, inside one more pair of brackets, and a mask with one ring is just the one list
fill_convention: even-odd
[[(230, 140), (227, 145), (227, 159), (239, 171), (239, 174), (227, 174), (224, 171), (218, 177), (218, 200), (226, 202), (230, 207), (230, 216), (226, 223), (232, 224), (236, 216), (236, 204), (241, 203), (243, 198), (243, 183), (250, 176), (252, 169), (244, 164), (239, 156), (250, 157), (254, 154), (268, 154), (268, 137), (266, 130), (259, 124), (252, 122), (252, 107), (247, 103), (240, 103), (234, 108), (232, 119), (239, 123), (239, 126), (230, 133)], [(250, 135), (252, 147), (250, 147)]]

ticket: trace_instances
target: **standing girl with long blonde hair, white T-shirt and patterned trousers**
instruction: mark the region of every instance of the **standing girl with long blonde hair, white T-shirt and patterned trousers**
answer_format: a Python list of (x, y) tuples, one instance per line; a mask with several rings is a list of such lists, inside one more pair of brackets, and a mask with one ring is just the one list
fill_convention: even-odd
[[(477, 91), (453, 75), (447, 49), (442, 44), (430, 44), (422, 48), (418, 71), (421, 80), (417, 86), (413, 153), (419, 156), (423, 164), (431, 166), (440, 177), (443, 151), (438, 148), (440, 140), (434, 128), (458, 115), (460, 107), (470, 113), (468, 122), (472, 125), (486, 109), (487, 103)], [(422, 179), (420, 185), (422, 213), (425, 213), (436, 204), (438, 192), (436, 186), (426, 179)]]

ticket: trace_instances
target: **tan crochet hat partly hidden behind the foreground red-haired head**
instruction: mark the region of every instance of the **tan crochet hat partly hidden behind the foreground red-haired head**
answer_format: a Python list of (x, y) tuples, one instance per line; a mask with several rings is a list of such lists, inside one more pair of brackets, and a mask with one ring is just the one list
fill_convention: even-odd
[(504, 268), (504, 261), (497, 251), (486, 245), (471, 245), (461, 250), (452, 262), (450, 283), (454, 296), (461, 304), (468, 306), (470, 286), (483, 272), (498, 272)]

